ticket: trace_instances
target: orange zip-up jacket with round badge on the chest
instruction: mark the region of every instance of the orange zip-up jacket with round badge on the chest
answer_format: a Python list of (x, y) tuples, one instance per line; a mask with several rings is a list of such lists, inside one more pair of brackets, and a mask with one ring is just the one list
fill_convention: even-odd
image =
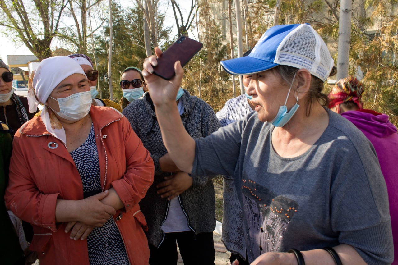
[[(100, 160), (101, 187), (113, 187), (125, 205), (113, 216), (130, 263), (148, 264), (146, 221), (139, 201), (154, 178), (148, 150), (115, 109), (90, 109)], [(55, 142), (58, 144), (49, 144)], [(40, 265), (89, 264), (87, 240), (71, 240), (66, 223), (55, 222), (57, 199), (83, 199), (82, 179), (64, 143), (47, 132), (35, 117), (14, 136), (6, 204), (16, 216), (33, 225), (30, 249), (38, 251)]]

